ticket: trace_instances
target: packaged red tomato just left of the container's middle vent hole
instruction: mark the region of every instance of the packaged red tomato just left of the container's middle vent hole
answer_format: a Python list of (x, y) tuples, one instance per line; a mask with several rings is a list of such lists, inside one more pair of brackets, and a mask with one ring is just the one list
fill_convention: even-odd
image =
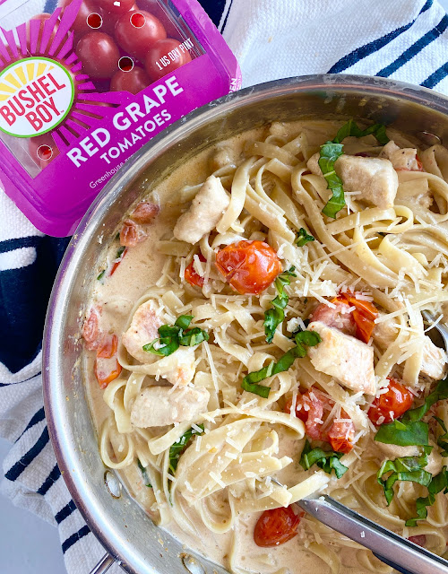
[(111, 78), (118, 70), (120, 52), (108, 34), (89, 32), (76, 46), (76, 56), (82, 61), (82, 70), (91, 78)]

